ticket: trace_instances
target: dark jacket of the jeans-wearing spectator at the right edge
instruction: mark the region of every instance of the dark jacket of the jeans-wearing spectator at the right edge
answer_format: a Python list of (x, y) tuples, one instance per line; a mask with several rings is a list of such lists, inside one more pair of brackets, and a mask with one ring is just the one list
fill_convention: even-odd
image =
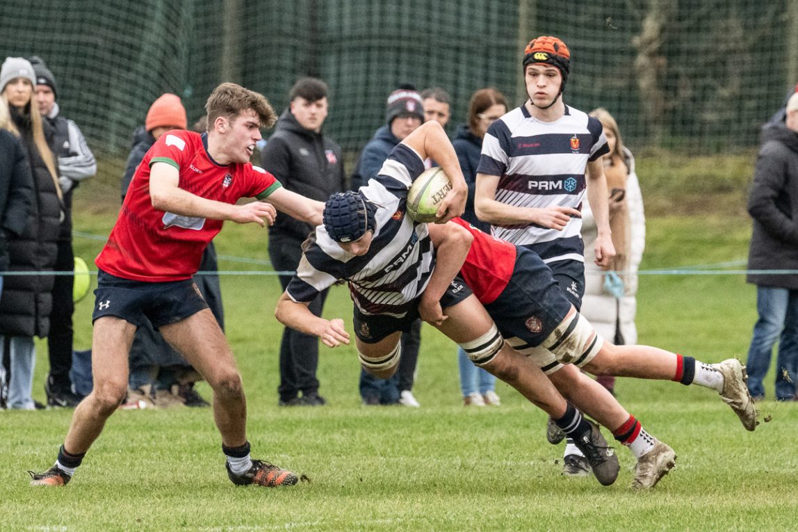
[[(784, 123), (762, 130), (748, 210), (753, 217), (749, 269), (798, 269), (798, 133)], [(798, 289), (796, 274), (752, 273), (748, 282)]]

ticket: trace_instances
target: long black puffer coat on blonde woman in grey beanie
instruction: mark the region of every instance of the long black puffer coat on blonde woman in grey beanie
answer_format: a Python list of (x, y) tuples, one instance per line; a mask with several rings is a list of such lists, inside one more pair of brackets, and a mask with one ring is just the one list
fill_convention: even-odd
[[(7, 242), (8, 269), (10, 272), (52, 271), (61, 225), (61, 200), (55, 181), (34, 144), (30, 115), (18, 113), (14, 107), (10, 114), (19, 129), (30, 164), (34, 194), (24, 231)], [(51, 132), (46, 124), (42, 125), (48, 137)], [(54, 280), (52, 275), (6, 276), (0, 296), (0, 334), (44, 338), (49, 333)]]

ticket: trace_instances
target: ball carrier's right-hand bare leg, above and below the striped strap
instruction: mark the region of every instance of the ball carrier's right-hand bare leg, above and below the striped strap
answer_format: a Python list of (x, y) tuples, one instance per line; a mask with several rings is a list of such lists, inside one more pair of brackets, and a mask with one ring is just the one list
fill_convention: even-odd
[[(493, 326), (493, 320), (475, 296), (469, 296), (453, 307), (444, 309), (444, 314), (448, 316), (448, 320), (438, 326), (438, 329), (456, 343), (480, 338)], [(516, 388), (521, 395), (552, 418), (560, 419), (565, 415), (567, 403), (546, 375), (543, 375), (543, 371), (507, 343), (483, 367)]]

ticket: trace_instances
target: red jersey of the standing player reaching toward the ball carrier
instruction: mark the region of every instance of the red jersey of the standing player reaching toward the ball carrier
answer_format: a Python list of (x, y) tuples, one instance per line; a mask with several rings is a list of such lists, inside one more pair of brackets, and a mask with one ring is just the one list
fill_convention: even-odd
[(148, 282), (189, 279), (199, 268), (207, 244), (222, 228), (223, 220), (177, 216), (153, 208), (149, 178), (150, 165), (156, 162), (180, 171), (180, 189), (228, 204), (271, 194), (281, 186), (271, 173), (250, 163), (217, 164), (199, 133), (164, 133), (133, 174), (117, 223), (94, 261), (113, 276)]

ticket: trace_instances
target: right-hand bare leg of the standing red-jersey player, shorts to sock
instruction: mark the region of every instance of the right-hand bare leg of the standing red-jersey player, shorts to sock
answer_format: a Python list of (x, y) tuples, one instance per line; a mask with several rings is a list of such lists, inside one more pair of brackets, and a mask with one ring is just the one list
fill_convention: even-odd
[(222, 443), (227, 447), (247, 443), (247, 399), (241, 375), (211, 311), (206, 308), (176, 324), (164, 325), (160, 332), (213, 389), (213, 419)]

